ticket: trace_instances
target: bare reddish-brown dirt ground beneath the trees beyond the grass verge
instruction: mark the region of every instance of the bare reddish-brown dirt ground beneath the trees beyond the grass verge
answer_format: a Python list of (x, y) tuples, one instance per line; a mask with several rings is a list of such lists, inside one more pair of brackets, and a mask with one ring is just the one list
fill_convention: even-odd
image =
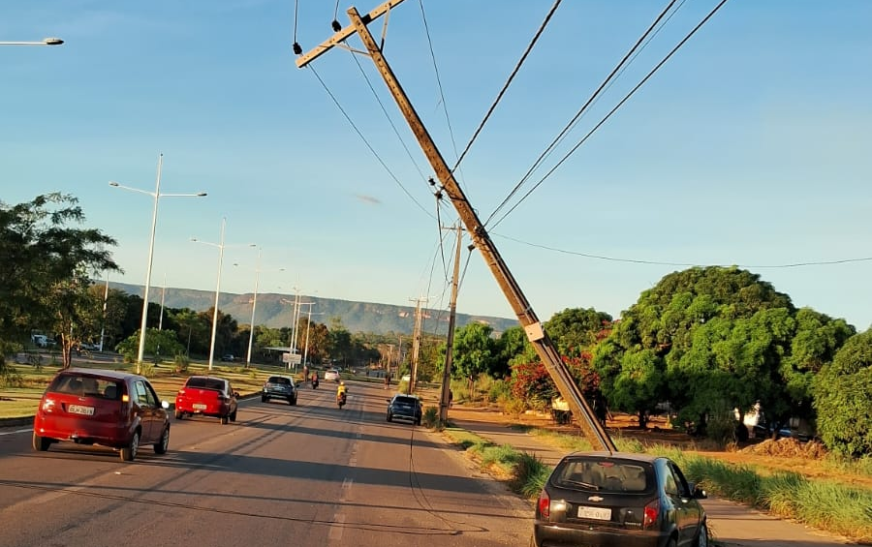
[[(557, 425), (550, 416), (541, 414), (523, 414), (516, 418), (503, 414), (496, 408), (460, 405), (453, 406), (450, 414), (461, 420), (487, 422), (505, 427), (525, 425), (570, 435), (579, 434), (578, 428)], [(724, 462), (754, 466), (763, 472), (790, 471), (809, 478), (833, 480), (872, 489), (872, 477), (845, 473), (835, 466), (828, 465), (823, 459), (825, 451), (820, 445), (809, 445), (793, 439), (781, 439), (777, 442), (758, 440), (732, 447), (732, 450), (720, 450), (710, 443), (697, 442), (685, 433), (669, 429), (663, 419), (653, 420), (647, 429), (640, 430), (635, 417), (628, 415), (613, 416), (613, 419), (607, 422), (607, 427), (612, 436), (620, 435), (624, 438), (637, 439), (646, 445), (666, 444)]]

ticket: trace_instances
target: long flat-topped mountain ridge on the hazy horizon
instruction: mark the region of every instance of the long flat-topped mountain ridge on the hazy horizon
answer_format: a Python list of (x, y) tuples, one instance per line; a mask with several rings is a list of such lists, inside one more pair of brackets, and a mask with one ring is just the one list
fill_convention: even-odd
[[(129, 294), (142, 296), (142, 285), (127, 283), (109, 283), (113, 289)], [(157, 304), (161, 299), (160, 287), (152, 287), (148, 299)], [(252, 293), (233, 294), (221, 293), (218, 308), (222, 313), (233, 316), (240, 325), (251, 322)], [(289, 327), (293, 323), (294, 295), (262, 293), (257, 295), (256, 324), (272, 328)], [(330, 325), (334, 317), (342, 319), (342, 324), (351, 332), (371, 332), (387, 334), (390, 332), (411, 334), (415, 328), (415, 308), (410, 306), (394, 306), (373, 302), (354, 302), (337, 300), (319, 296), (300, 295), (301, 302), (315, 302), (312, 308), (312, 322)], [(288, 303), (290, 302), (290, 303)], [(168, 308), (190, 308), (195, 311), (205, 311), (215, 303), (214, 291), (195, 289), (176, 289), (167, 287), (164, 306)], [(301, 316), (308, 313), (310, 306), (300, 308)], [(317, 315), (316, 315), (317, 314)], [(422, 329), (427, 333), (445, 334), (448, 332), (447, 310), (423, 310)], [(518, 325), (517, 319), (490, 317), (485, 315), (457, 314), (457, 326), (478, 322), (490, 325), (495, 333), (501, 333), (509, 327)]]

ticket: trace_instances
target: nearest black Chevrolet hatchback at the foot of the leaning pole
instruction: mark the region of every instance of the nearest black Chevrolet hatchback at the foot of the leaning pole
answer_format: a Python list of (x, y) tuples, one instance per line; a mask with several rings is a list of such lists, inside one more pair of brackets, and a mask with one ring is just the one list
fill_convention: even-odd
[(658, 456), (578, 452), (564, 457), (536, 504), (533, 538), (547, 545), (705, 547), (705, 491)]

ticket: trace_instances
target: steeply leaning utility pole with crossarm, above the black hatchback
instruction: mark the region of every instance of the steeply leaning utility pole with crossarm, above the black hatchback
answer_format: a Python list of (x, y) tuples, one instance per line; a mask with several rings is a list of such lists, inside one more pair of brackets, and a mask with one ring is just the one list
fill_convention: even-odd
[[(451, 203), (454, 204), (455, 209), (457, 209), (457, 213), (466, 226), (466, 231), (472, 238), (475, 247), (479, 252), (481, 252), (485, 263), (488, 268), (490, 268), (491, 273), (494, 275), (500, 286), (500, 289), (502, 289), (503, 293), (506, 295), (506, 299), (512, 306), (512, 310), (518, 317), (518, 321), (521, 323), (521, 326), (524, 327), (527, 339), (536, 350), (539, 358), (542, 359), (542, 363), (545, 365), (548, 374), (554, 380), (560, 395), (566, 399), (566, 402), (569, 404), (573, 417), (576, 419), (578, 425), (581, 427), (588, 439), (592, 441), (592, 444), (597, 444), (600, 448), (609, 452), (615, 452), (617, 451), (617, 448), (615, 447), (614, 442), (612, 442), (608, 432), (596, 419), (596, 415), (593, 413), (590, 405), (585, 401), (581, 390), (575, 384), (572, 375), (563, 364), (560, 354), (557, 353), (554, 344), (542, 328), (542, 323), (533, 311), (533, 307), (530, 305), (529, 301), (527, 301), (527, 297), (524, 296), (521, 287), (512, 276), (508, 266), (503, 262), (499, 251), (497, 251), (496, 245), (493, 240), (491, 240), (490, 235), (479, 220), (478, 215), (472, 208), (469, 200), (467, 200), (460, 185), (457, 184), (457, 180), (454, 178), (454, 173), (451, 172), (451, 168), (445, 162), (445, 158), (442, 157), (442, 153), (439, 152), (436, 143), (433, 142), (430, 133), (427, 132), (427, 128), (424, 127), (424, 124), (421, 122), (421, 118), (418, 116), (418, 113), (415, 111), (415, 108), (406, 96), (405, 91), (403, 91), (400, 82), (397, 80), (397, 77), (394, 75), (393, 70), (391, 70), (391, 67), (388, 64), (387, 59), (385, 59), (382, 54), (381, 47), (376, 43), (375, 38), (367, 27), (367, 24), (382, 15), (388, 14), (391, 8), (402, 2), (403, 0), (388, 0), (364, 17), (360, 16), (357, 8), (349, 8), (347, 13), (351, 20), (351, 25), (340, 29), (321, 45), (317, 46), (309, 53), (298, 57), (296, 61), (297, 67), (302, 68), (306, 66), (314, 59), (332, 49), (334, 46), (343, 43), (353, 34), (360, 36), (360, 39), (366, 46), (366, 50), (369, 52), (370, 58), (375, 63), (376, 68), (381, 73), (388, 89), (396, 100), (397, 106), (400, 108), (400, 111), (409, 123), (409, 127), (418, 139), (418, 144), (421, 146), (424, 155), (427, 156), (430, 165), (436, 172), (436, 176), (439, 178), (442, 188), (451, 199)], [(387, 22), (387, 17), (385, 19)], [(386, 30), (387, 29), (384, 29), (382, 31), (382, 40), (384, 40)], [(358, 53), (355, 50), (351, 51), (353, 53)]]

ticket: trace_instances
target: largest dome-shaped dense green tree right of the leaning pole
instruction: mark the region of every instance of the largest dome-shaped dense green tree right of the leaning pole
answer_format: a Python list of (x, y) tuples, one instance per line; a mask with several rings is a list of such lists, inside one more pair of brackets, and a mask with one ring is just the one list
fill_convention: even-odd
[(623, 314), (594, 367), (611, 404), (639, 413), (640, 423), (667, 400), (691, 419), (725, 397), (745, 408), (772, 402), (794, 313), (786, 294), (746, 270), (674, 272)]

